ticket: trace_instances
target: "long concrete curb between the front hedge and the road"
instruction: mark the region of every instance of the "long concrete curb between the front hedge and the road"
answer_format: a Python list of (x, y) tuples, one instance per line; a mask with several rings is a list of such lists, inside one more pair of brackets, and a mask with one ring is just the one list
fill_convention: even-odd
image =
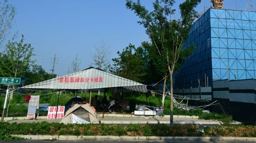
[(58, 140), (190, 140), (190, 141), (256, 141), (256, 138), (238, 137), (130, 137), (130, 136), (50, 136), (50, 135), (13, 135), (27, 139), (58, 139)]

